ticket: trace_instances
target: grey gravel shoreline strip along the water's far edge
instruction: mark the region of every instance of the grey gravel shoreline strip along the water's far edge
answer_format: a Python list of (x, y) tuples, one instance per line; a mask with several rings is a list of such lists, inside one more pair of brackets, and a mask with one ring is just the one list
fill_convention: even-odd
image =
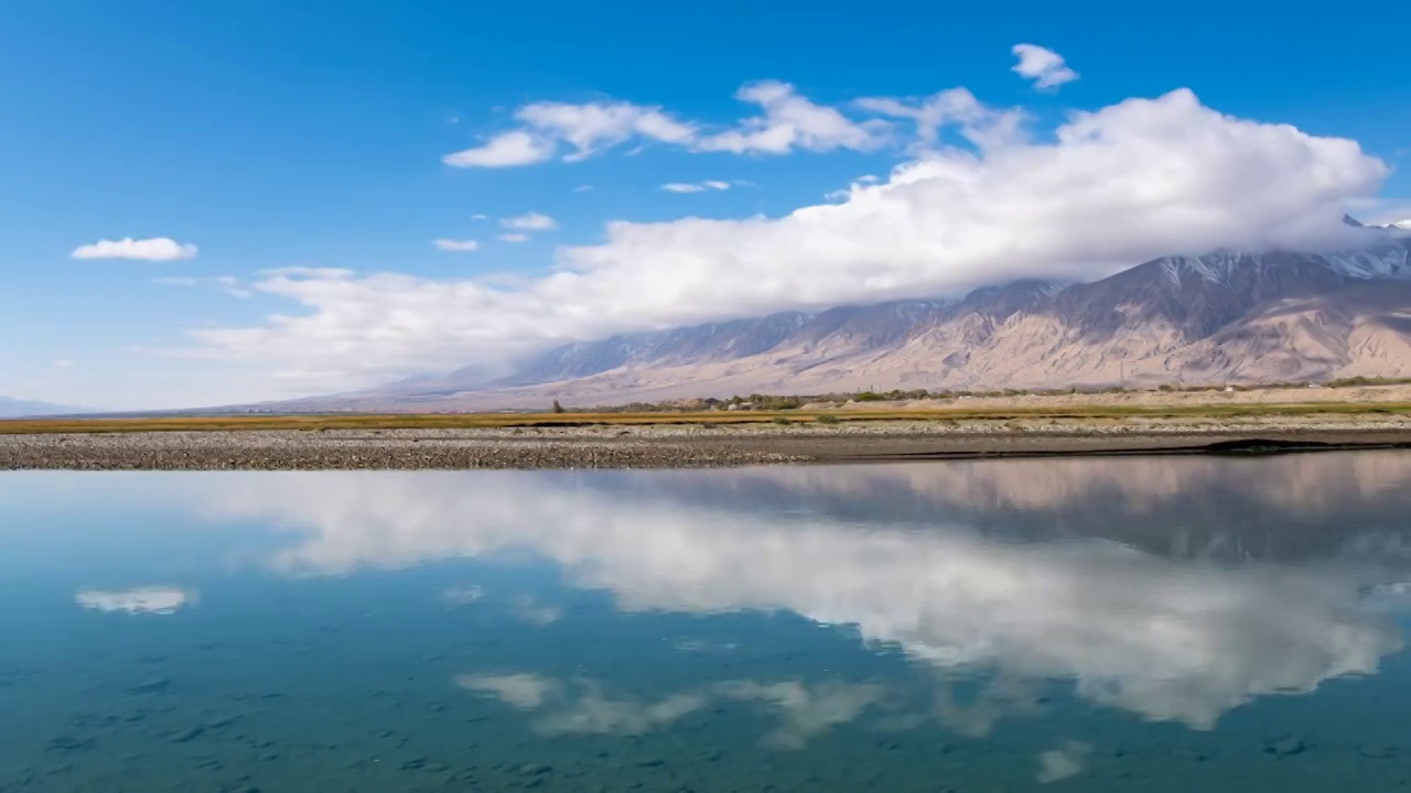
[(1229, 442), (1411, 447), (1411, 418), (897, 420), (519, 429), (0, 435), (0, 470), (703, 468), (1194, 453)]

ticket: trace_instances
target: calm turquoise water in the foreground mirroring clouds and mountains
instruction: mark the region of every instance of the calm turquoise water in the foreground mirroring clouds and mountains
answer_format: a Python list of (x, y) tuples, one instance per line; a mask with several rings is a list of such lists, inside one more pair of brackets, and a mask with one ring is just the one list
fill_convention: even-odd
[(1411, 454), (0, 474), (0, 790), (1411, 787)]

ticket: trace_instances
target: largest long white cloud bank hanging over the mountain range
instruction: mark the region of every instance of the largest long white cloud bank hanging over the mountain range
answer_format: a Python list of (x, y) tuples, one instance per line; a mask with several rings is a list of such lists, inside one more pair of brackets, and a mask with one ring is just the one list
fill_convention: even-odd
[(612, 222), (601, 244), (559, 248), (552, 272), (509, 288), (389, 272), (270, 277), (254, 288), (301, 310), (200, 330), (199, 354), (265, 360), (310, 374), (310, 387), (343, 388), (614, 333), (1019, 278), (1095, 279), (1170, 254), (1338, 247), (1355, 233), (1343, 205), (1388, 172), (1355, 141), (1225, 116), (1184, 89), (1074, 113), (1050, 135), (1023, 134), (1019, 114), (971, 99), (875, 100), (975, 144), (920, 152), (840, 203)]

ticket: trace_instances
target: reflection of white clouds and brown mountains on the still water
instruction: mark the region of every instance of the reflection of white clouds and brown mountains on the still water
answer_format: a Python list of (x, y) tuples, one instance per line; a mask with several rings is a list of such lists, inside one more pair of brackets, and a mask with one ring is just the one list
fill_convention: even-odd
[[(934, 715), (983, 734), (1029, 707), (1040, 680), (1206, 730), (1252, 698), (1376, 672), (1403, 642), (1387, 611), (1405, 597), (1408, 480), (1411, 457), (1388, 453), (270, 474), (209, 478), (196, 492), (214, 516), (295, 531), (268, 559), (288, 574), (529, 553), (624, 611), (852, 625), (934, 672)], [(560, 617), (528, 600), (516, 608), (532, 622)], [(991, 680), (988, 696), (951, 701), (947, 682), (972, 676)], [(549, 734), (641, 732), (714, 700), (756, 701), (783, 714), (780, 745), (885, 701), (866, 684), (727, 680), (648, 700), (515, 670), (459, 682), (532, 711)], [(1081, 761), (1060, 746), (1044, 775)]]

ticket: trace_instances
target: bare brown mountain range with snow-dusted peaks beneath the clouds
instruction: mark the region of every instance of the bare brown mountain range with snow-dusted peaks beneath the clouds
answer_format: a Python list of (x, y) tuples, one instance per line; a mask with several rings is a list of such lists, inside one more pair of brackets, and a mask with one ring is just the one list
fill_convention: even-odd
[[(1352, 219), (1349, 224), (1360, 226)], [(1171, 255), (1085, 284), (783, 312), (567, 344), (306, 408), (487, 409), (732, 394), (1154, 387), (1411, 375), (1411, 222), (1339, 253)]]

